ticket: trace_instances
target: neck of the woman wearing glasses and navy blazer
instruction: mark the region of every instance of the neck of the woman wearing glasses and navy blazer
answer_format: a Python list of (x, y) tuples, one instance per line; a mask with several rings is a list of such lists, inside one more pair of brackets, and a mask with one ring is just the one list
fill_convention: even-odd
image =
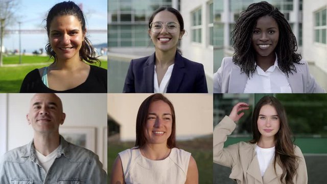
[(169, 51), (155, 51), (155, 65), (156, 66), (170, 66), (175, 62), (176, 49)]

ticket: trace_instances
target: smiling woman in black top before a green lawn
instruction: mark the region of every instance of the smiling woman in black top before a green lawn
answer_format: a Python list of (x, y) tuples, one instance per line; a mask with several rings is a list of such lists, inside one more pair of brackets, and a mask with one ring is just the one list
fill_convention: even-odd
[[(50, 66), (28, 73), (20, 93), (107, 93), (107, 70), (86, 37), (82, 10), (71, 1), (52, 7), (45, 19)], [(86, 64), (89, 63), (89, 64)]]

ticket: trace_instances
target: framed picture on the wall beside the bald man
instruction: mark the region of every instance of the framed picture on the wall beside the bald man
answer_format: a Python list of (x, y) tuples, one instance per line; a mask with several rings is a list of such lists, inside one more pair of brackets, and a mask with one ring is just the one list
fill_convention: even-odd
[(95, 127), (60, 127), (59, 134), (69, 143), (97, 152)]

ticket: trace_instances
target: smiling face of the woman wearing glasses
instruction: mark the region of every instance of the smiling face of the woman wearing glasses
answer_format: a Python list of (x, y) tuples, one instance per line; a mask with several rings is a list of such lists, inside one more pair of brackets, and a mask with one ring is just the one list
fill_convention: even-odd
[(182, 38), (185, 31), (180, 31), (178, 26), (177, 31), (175, 33), (170, 33), (171, 31), (168, 32), (166, 28), (167, 22), (178, 23), (178, 19), (175, 14), (166, 10), (160, 11), (154, 16), (152, 22), (162, 23), (162, 30), (159, 33), (154, 33), (151, 31), (151, 29), (148, 30), (151, 40), (155, 45), (155, 49), (164, 52), (176, 51), (178, 40)]

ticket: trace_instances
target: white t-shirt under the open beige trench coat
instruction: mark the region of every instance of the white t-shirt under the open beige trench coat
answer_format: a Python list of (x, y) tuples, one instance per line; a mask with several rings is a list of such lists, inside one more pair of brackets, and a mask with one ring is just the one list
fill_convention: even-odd
[(261, 176), (263, 176), (271, 162), (271, 159), (275, 155), (275, 147), (272, 148), (260, 148), (258, 145), (255, 146), (256, 157), (259, 161), (259, 167)]

